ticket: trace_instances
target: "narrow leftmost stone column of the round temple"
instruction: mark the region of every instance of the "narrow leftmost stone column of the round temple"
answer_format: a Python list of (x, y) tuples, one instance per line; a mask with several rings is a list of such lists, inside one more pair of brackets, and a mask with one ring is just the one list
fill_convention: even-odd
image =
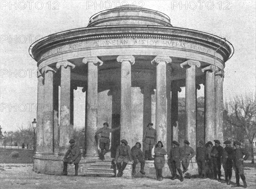
[(44, 77), (37, 71), (38, 77), (38, 99), (37, 99), (37, 146), (36, 152), (44, 152)]

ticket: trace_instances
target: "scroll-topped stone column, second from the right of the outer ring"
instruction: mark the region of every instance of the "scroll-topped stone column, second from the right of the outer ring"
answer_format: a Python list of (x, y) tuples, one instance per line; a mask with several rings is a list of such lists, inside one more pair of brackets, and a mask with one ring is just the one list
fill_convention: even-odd
[(214, 140), (215, 137), (215, 90), (214, 72), (215, 66), (210, 65), (202, 69), (205, 73), (204, 86), (204, 123), (205, 142)]

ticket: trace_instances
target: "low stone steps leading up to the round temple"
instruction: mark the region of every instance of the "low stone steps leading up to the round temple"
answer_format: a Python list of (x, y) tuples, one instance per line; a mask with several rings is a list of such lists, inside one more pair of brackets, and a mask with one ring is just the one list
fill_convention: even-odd
[(111, 164), (111, 160), (96, 160), (90, 164), (84, 176), (88, 177), (115, 177), (116, 166)]

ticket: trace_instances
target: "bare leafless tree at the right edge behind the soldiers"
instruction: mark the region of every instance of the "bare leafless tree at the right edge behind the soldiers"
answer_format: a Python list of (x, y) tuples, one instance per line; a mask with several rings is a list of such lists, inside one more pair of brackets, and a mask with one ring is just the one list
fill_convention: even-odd
[[(250, 143), (253, 158), (253, 139), (256, 135), (256, 97), (254, 95), (236, 96), (226, 106), (226, 120), (230, 125), (241, 129), (245, 139)], [(241, 134), (240, 133), (240, 134)]]

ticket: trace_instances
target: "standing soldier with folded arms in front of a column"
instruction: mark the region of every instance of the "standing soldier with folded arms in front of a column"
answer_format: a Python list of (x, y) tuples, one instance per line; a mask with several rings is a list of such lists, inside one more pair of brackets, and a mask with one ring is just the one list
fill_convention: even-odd
[(154, 167), (156, 169), (157, 180), (159, 181), (163, 180), (162, 169), (165, 162), (164, 155), (166, 154), (167, 152), (165, 151), (165, 149), (163, 149), (163, 143), (161, 141), (158, 141), (154, 149)]

